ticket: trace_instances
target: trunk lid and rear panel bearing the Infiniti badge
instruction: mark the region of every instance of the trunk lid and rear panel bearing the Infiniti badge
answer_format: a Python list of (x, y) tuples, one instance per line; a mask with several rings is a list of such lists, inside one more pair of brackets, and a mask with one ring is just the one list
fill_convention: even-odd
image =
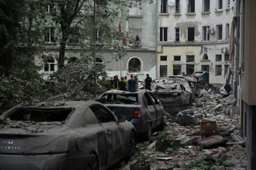
[[(45, 123), (45, 124), (44, 124)], [(69, 128), (60, 122), (0, 125), (0, 154), (58, 154), (67, 152)]]

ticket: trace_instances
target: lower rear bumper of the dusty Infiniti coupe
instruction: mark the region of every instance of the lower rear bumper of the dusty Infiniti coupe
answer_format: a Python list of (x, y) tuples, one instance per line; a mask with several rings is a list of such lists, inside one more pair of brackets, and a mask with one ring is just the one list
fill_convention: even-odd
[[(85, 158), (83, 160), (86, 160)], [(77, 160), (69, 161), (67, 154), (52, 155), (3, 155), (0, 154), (0, 169), (69, 169), (77, 166)], [(72, 163), (73, 165), (71, 165)], [(79, 164), (79, 163), (78, 163)], [(86, 163), (83, 163), (86, 164)]]

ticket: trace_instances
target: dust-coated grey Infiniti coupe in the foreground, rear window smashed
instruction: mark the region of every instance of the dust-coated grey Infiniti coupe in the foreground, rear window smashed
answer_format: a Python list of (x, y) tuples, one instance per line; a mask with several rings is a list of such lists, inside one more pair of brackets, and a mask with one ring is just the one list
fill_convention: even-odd
[(134, 126), (97, 101), (18, 105), (0, 116), (0, 169), (107, 169), (129, 161)]

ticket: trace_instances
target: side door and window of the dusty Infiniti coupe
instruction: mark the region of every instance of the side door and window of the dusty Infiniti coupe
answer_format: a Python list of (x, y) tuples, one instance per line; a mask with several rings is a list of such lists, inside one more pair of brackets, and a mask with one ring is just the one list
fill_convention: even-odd
[(107, 142), (107, 165), (112, 165), (123, 154), (122, 147), (124, 143), (121, 141), (121, 128), (119, 127), (114, 114), (106, 107), (93, 105), (90, 108), (105, 131)]

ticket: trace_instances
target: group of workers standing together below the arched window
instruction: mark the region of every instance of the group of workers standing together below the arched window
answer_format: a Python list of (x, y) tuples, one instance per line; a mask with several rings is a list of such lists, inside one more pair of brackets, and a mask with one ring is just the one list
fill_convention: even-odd
[[(147, 74), (147, 78), (145, 79), (145, 87), (150, 90), (152, 79)], [(116, 74), (113, 78), (109, 80), (110, 89), (117, 89), (123, 91), (136, 91), (138, 89), (139, 78), (138, 75), (131, 75), (131, 78), (127, 80), (127, 77), (122, 77), (121, 80), (118, 79), (118, 75)]]

